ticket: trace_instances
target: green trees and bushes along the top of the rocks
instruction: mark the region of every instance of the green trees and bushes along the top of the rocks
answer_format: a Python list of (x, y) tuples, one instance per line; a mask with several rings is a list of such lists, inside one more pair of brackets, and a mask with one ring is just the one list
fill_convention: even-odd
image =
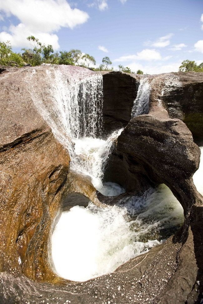
[[(26, 65), (41, 65), (42, 63), (51, 63), (57, 65), (79, 65), (86, 67), (93, 71), (112, 71), (112, 62), (109, 57), (104, 57), (99, 68), (90, 67), (96, 65), (96, 60), (89, 54), (84, 54), (80, 50), (72, 49), (70, 51), (54, 52), (52, 45), (45, 46), (34, 36), (27, 37), (33, 45), (31, 49), (22, 49), (22, 53), (15, 53), (9, 41), (0, 42), (0, 65), (7, 66), (26, 66)], [(118, 65), (119, 71), (125, 73), (135, 72), (131, 71), (129, 67)], [(195, 61), (184, 60), (179, 67), (179, 71), (183, 72), (203, 72), (203, 63), (197, 65)], [(141, 70), (137, 70), (136, 74), (143, 74)]]

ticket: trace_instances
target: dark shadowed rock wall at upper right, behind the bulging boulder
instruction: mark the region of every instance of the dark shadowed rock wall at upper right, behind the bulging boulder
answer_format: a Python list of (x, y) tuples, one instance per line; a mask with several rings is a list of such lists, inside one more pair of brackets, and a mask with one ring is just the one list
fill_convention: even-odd
[(171, 73), (155, 77), (162, 82), (160, 100), (170, 118), (179, 118), (192, 132), (195, 140), (203, 137), (203, 75), (202, 73)]

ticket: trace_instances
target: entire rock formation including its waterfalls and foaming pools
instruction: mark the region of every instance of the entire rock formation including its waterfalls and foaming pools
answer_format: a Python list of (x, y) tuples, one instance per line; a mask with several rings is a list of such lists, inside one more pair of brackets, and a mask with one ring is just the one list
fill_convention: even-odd
[(201, 302), (201, 73), (0, 81), (1, 302)]

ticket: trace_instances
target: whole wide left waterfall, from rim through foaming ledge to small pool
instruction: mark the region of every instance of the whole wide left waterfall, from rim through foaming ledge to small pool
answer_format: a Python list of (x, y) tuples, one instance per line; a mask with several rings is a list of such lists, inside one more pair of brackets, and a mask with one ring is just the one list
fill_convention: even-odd
[[(32, 77), (36, 76), (33, 69)], [(67, 75), (47, 66), (45, 77), (48, 86), (42, 90), (32, 87), (32, 79), (27, 84), (38, 111), (52, 128), (54, 136), (69, 151), (71, 169), (90, 176), (95, 188), (105, 195), (125, 192), (114, 183), (102, 183), (103, 167), (112, 142), (122, 131), (114, 132), (107, 140), (99, 138), (102, 131), (102, 75), (68, 81)]]

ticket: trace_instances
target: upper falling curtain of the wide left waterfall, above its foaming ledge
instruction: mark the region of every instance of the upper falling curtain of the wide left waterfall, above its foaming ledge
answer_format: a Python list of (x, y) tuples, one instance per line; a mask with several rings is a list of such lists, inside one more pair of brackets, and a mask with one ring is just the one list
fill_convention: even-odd
[[(33, 69), (32, 77), (36, 74)], [(44, 91), (28, 87), (38, 111), (55, 137), (74, 155), (71, 142), (81, 137), (95, 138), (102, 130), (102, 75), (67, 80), (60, 70), (46, 70), (49, 84)], [(31, 79), (32, 80), (32, 79)]]

